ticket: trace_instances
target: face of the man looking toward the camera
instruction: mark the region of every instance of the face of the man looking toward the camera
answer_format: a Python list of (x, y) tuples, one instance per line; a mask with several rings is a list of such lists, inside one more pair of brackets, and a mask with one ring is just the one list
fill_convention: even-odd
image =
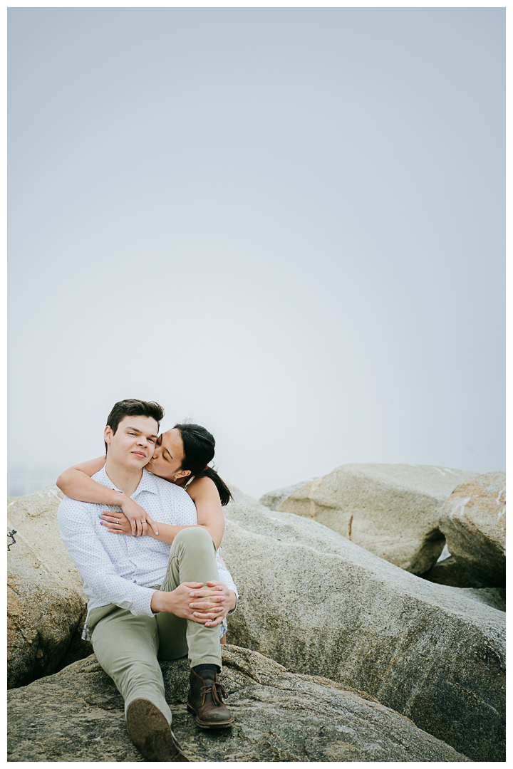
[(115, 433), (107, 425), (104, 437), (108, 461), (135, 472), (152, 458), (158, 423), (152, 417), (124, 417)]

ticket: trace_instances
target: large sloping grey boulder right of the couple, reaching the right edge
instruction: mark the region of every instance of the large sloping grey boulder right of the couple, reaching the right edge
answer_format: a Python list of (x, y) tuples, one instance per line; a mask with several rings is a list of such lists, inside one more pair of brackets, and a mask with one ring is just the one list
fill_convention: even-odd
[(504, 761), (505, 614), (316, 521), (229, 504), (228, 641), (378, 701), (475, 761)]

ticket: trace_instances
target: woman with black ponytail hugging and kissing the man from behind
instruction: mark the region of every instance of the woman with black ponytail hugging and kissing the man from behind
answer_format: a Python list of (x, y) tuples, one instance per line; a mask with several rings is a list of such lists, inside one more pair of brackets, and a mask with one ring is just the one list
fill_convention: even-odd
[[(187, 491), (198, 511), (198, 526), (207, 529), (219, 550), (225, 532), (222, 505), (228, 504), (232, 494), (216, 471), (208, 467), (214, 453), (215, 440), (208, 430), (199, 424), (175, 424), (172, 430), (162, 433), (158, 438), (152, 460), (145, 466), (145, 470)], [(133, 499), (123, 494), (120, 500), (119, 491), (98, 484), (92, 475), (100, 471), (104, 464), (105, 457), (98, 457), (73, 465), (59, 475), (58, 488), (72, 499), (121, 508), (121, 516), (118, 512), (115, 515), (111, 512), (102, 514), (102, 525), (112, 534), (149, 536), (172, 544), (178, 531), (188, 528), (153, 521)], [(214, 585), (208, 583), (208, 586)], [(222, 592), (228, 590), (217, 584), (215, 587)], [(225, 644), (226, 619), (218, 618), (212, 622), (212, 625), (215, 624), (219, 624), (221, 643)]]

